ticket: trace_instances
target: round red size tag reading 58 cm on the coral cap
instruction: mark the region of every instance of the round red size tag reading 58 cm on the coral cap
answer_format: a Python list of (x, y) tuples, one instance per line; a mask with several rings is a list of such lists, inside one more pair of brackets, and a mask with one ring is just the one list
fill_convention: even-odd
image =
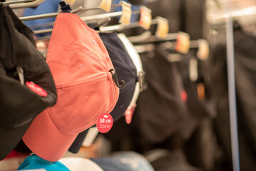
[(108, 133), (113, 126), (113, 118), (109, 113), (103, 113), (98, 117), (96, 125), (100, 133)]

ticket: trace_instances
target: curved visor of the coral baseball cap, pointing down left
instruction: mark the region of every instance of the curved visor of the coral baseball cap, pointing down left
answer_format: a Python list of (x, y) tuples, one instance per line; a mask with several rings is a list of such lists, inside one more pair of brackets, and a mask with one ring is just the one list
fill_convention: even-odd
[(68, 151), (76, 136), (61, 133), (48, 115), (47, 108), (34, 119), (22, 139), (36, 155), (56, 162)]

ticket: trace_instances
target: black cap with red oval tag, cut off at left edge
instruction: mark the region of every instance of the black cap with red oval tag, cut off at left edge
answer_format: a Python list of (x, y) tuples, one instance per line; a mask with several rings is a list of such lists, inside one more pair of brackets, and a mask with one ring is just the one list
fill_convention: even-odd
[[(14, 149), (32, 120), (56, 103), (56, 87), (34, 33), (0, 4), (0, 160)], [(24, 81), (24, 84), (22, 82)]]

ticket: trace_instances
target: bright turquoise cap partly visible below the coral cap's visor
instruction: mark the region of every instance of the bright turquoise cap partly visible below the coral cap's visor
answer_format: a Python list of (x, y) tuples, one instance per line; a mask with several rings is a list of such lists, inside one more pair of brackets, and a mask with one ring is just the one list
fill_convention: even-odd
[(49, 162), (37, 155), (31, 155), (29, 157), (26, 157), (24, 162), (22, 162), (18, 168), (18, 170), (36, 170), (36, 169), (44, 169), (47, 171), (58, 171), (58, 170), (70, 171), (61, 162)]

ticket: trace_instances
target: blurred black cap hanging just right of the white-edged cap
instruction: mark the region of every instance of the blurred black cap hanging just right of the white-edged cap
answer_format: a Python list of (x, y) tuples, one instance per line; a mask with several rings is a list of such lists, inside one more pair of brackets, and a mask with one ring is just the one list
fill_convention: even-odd
[(141, 138), (152, 144), (163, 142), (178, 131), (185, 119), (178, 68), (168, 61), (170, 52), (162, 47), (155, 45), (153, 57), (140, 53), (147, 89), (138, 98), (134, 124)]

